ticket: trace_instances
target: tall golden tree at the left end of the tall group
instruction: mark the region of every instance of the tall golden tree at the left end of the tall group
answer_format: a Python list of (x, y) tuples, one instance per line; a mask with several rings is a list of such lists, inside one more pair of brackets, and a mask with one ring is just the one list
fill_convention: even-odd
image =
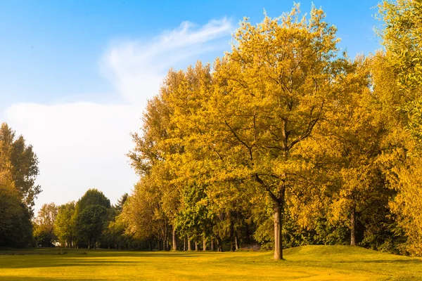
[[(159, 195), (160, 209), (173, 227), (173, 249), (177, 249), (174, 222), (181, 205), (181, 192), (190, 186), (188, 176), (181, 172), (186, 170), (181, 167), (182, 155), (186, 153), (183, 140), (193, 130), (179, 117), (196, 112), (201, 101), (200, 89), (210, 85), (210, 81), (209, 65), (198, 63), (188, 67), (186, 72), (170, 70), (159, 95), (148, 102), (142, 133), (134, 134), (135, 148), (129, 153), (141, 181), (148, 177)], [(132, 203), (129, 201), (129, 204)]]

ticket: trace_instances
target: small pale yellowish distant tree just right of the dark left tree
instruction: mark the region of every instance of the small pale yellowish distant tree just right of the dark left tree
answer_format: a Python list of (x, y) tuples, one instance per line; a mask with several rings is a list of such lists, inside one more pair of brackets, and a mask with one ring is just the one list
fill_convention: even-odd
[(57, 217), (56, 204), (43, 204), (38, 211), (38, 216), (35, 218), (34, 237), (37, 244), (43, 247), (52, 247), (57, 240), (54, 233), (54, 224)]

